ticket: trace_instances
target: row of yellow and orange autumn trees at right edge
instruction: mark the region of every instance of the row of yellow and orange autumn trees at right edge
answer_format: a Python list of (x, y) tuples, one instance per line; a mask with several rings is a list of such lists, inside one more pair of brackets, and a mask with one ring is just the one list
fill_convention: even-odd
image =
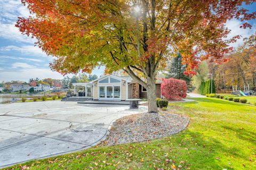
[(244, 38), (243, 44), (234, 48), (226, 56), (225, 62), (202, 62), (197, 74), (192, 78), (193, 86), (197, 89), (202, 81), (211, 78), (215, 82), (217, 92), (231, 92), (244, 90), (244, 86), (256, 91), (256, 33), (249, 38)]

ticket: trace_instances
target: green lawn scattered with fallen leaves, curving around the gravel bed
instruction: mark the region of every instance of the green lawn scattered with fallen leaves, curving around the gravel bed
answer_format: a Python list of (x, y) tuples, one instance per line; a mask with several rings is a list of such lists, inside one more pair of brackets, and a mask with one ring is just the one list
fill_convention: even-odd
[(167, 107), (166, 112), (190, 116), (188, 128), (171, 137), (94, 147), (9, 169), (256, 169), (256, 107), (193, 99)]

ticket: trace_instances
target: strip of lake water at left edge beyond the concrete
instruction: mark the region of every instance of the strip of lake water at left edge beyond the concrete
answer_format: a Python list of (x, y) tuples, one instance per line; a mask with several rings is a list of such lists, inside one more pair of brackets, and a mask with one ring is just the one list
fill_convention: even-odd
[(21, 100), (21, 98), (31, 99), (34, 97), (44, 96), (43, 94), (36, 95), (0, 95), (0, 104), (11, 103)]

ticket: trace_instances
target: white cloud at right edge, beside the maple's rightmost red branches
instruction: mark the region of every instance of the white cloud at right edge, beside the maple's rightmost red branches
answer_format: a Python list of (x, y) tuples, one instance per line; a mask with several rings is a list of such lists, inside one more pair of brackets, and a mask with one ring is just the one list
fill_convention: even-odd
[(246, 38), (246, 37), (249, 37), (251, 36), (255, 31), (256, 31), (256, 28), (255, 28), (255, 25), (253, 25), (252, 29), (243, 29), (243, 28), (240, 28), (240, 25), (242, 25), (243, 23), (241, 21), (238, 21), (238, 20), (230, 20), (226, 23), (226, 26), (228, 27), (228, 29), (231, 30), (231, 32), (229, 33), (227, 39), (230, 39), (234, 36), (237, 36), (237, 35), (240, 35), (242, 36), (240, 39), (238, 39), (236, 41), (236, 43), (232, 43), (230, 44), (230, 46), (232, 47), (238, 47), (239, 45), (242, 45), (243, 44), (243, 39)]

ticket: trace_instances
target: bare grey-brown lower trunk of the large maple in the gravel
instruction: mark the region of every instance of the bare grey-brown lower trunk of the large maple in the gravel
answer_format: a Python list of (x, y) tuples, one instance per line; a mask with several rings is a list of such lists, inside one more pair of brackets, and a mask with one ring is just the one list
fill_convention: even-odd
[(156, 84), (155, 81), (148, 81), (147, 83), (147, 94), (148, 94), (148, 113), (158, 112), (156, 106)]

